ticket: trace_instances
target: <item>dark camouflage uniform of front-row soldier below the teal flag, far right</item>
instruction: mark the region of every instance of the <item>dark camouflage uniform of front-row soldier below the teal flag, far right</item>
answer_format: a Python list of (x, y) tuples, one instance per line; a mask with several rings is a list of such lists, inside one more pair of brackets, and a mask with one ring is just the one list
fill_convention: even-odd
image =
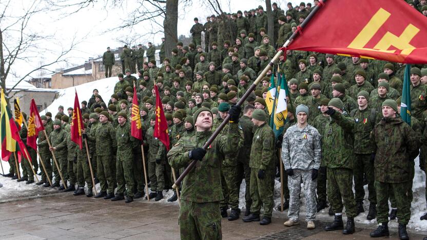
[(394, 194), (399, 224), (406, 225), (411, 217), (407, 182), (411, 181), (413, 159), (419, 153), (419, 141), (412, 128), (400, 116), (382, 118), (371, 134), (375, 155), (375, 190), (377, 191), (377, 222), (389, 222), (389, 196)]

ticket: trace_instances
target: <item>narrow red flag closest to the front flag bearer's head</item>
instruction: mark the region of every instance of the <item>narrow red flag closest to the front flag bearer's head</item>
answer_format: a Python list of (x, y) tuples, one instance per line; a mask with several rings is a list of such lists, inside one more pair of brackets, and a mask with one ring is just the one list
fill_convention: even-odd
[(157, 85), (154, 85), (156, 91), (156, 125), (154, 125), (153, 136), (160, 139), (160, 141), (166, 146), (166, 150), (169, 151), (169, 134), (167, 131), (167, 122), (165, 112), (163, 111), (162, 99), (160, 99), (159, 89)]

